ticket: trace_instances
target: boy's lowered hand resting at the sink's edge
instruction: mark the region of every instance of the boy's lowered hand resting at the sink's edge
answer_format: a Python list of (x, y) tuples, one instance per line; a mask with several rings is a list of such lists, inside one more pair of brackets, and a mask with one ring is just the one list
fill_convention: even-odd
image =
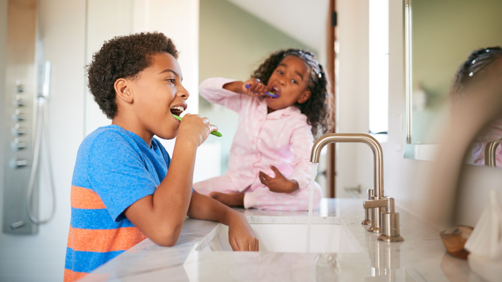
[(260, 250), (255, 231), (247, 222), (244, 214), (235, 210), (230, 210), (228, 215), (228, 242), (232, 250)]

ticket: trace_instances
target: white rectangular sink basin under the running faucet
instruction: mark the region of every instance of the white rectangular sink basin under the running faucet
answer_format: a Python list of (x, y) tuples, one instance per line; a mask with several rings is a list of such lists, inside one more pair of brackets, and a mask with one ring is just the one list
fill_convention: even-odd
[[(307, 224), (250, 224), (260, 240), (260, 251), (305, 252)], [(231, 251), (228, 226), (221, 225), (199, 250)], [(355, 238), (342, 224), (312, 224), (310, 252), (360, 252)]]

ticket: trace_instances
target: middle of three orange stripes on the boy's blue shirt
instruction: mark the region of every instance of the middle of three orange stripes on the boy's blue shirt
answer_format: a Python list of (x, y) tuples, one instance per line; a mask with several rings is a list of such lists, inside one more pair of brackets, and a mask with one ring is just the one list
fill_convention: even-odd
[(70, 226), (66, 246), (78, 251), (127, 250), (146, 237), (137, 227), (80, 229)]

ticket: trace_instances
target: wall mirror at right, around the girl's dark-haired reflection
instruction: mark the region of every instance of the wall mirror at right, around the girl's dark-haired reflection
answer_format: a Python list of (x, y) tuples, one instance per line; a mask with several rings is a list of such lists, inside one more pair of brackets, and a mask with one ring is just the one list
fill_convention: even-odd
[[(457, 68), (474, 50), (502, 46), (502, 2), (404, 0), (403, 7), (404, 157), (433, 160), (441, 127), (449, 117), (449, 90)], [(502, 137), (502, 128), (498, 131), (489, 140), (478, 141), (495, 141)], [(484, 165), (484, 144), (473, 144), (467, 163)]]

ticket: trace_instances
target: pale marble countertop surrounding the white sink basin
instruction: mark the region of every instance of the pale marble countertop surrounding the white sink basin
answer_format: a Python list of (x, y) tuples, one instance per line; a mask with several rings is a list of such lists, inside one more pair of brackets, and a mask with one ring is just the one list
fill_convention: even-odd
[[(307, 212), (238, 209), (250, 223), (307, 223)], [(187, 218), (178, 242), (148, 238), (80, 281), (482, 281), (466, 260), (448, 255), (438, 229), (400, 210), (404, 242), (386, 243), (360, 222), (360, 199), (322, 199), (313, 223), (344, 224), (360, 252), (198, 251), (220, 223)]]

